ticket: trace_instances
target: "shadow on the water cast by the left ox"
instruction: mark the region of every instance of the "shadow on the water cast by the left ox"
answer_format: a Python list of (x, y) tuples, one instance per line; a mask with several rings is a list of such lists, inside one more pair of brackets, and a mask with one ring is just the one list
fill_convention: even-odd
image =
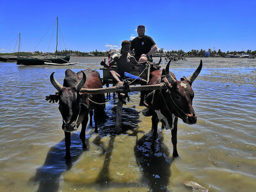
[[(71, 159), (65, 160), (65, 139), (51, 147), (44, 164), (36, 170), (36, 175), (29, 180), (29, 183), (39, 182), (38, 192), (58, 191), (60, 176), (66, 170), (72, 168), (79, 156), (83, 153), (82, 143), (77, 133), (71, 134)], [(88, 143), (88, 142), (87, 142)]]

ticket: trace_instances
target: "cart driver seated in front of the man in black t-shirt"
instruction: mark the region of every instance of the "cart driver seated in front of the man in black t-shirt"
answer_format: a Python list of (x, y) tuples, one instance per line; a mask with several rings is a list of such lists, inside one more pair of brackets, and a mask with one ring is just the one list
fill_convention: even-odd
[[(125, 40), (124, 42), (122, 42), (122, 54), (120, 56), (116, 56), (109, 64), (107, 64), (105, 61), (101, 61), (100, 65), (109, 68), (116, 63), (117, 72), (115, 72), (115, 70), (110, 70), (110, 74), (113, 77), (113, 81), (115, 81), (115, 83), (123, 84), (122, 81), (124, 81), (124, 79), (131, 78), (136, 79), (136, 81), (138, 81), (141, 85), (145, 85), (147, 84), (147, 81), (145, 79), (129, 73), (132, 70), (131, 64), (138, 64), (138, 61), (135, 60), (134, 56), (131, 56), (129, 54), (130, 47), (131, 42)], [(142, 97), (142, 95), (140, 100), (140, 106), (147, 106), (147, 104), (145, 104), (144, 102), (144, 97)]]

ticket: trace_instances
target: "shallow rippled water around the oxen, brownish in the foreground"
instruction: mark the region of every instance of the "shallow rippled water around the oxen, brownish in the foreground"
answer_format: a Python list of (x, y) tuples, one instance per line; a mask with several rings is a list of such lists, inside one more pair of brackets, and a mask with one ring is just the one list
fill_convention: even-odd
[(200, 59), (203, 69), (193, 83), (198, 122), (179, 120), (180, 157), (173, 159), (171, 132), (161, 124), (156, 151), (150, 150), (151, 117), (134, 92), (124, 106), (124, 133), (111, 134), (111, 101), (99, 134), (87, 127), (89, 150), (81, 148), (80, 129), (72, 134), (71, 162), (64, 159), (58, 104), (45, 100), (55, 92), (49, 76), (55, 72), (62, 82), (67, 68), (99, 70), (95, 63), (102, 58), (72, 58), (79, 64), (67, 67), (0, 63), (0, 191), (191, 191), (185, 180), (209, 191), (255, 191), (256, 60), (188, 58), (170, 70), (177, 78), (188, 77)]

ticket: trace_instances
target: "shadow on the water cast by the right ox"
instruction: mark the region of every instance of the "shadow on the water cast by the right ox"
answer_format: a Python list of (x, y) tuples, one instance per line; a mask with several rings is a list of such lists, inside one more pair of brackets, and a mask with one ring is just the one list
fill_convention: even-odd
[(159, 132), (156, 147), (152, 150), (152, 133), (148, 132), (136, 141), (134, 154), (136, 162), (143, 173), (142, 182), (146, 182), (151, 191), (169, 191), (168, 181), (171, 177), (170, 166), (173, 157), (169, 158), (169, 150), (163, 142), (163, 134)]

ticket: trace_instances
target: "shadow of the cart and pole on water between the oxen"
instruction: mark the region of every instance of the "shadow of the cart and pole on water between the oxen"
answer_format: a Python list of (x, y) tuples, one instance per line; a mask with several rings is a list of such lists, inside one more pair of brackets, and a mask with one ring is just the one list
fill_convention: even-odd
[[(111, 163), (111, 156), (113, 152), (113, 147), (115, 143), (115, 138), (116, 134), (113, 134), (115, 131), (115, 111), (116, 108), (111, 106), (111, 108), (106, 108), (106, 112), (108, 113), (107, 115), (109, 116), (108, 122), (104, 124), (102, 129), (99, 129), (99, 134), (98, 136), (93, 140), (93, 143), (95, 145), (99, 145), (100, 148), (102, 148), (102, 154), (105, 155), (104, 158), (104, 163), (102, 166), (102, 170), (100, 170), (99, 175), (95, 182), (86, 184), (86, 188), (96, 188), (99, 190), (106, 190), (110, 188), (134, 188), (140, 186), (137, 182), (115, 182), (113, 183), (111, 181), (111, 175), (109, 175), (109, 164)], [(122, 113), (122, 134), (127, 134), (129, 136), (136, 136), (137, 134), (137, 129), (138, 128), (138, 123), (140, 122), (139, 120), (140, 115), (138, 111), (136, 111), (135, 107), (134, 108), (123, 108), (123, 113)], [(127, 133), (127, 131), (132, 131)], [(101, 141), (101, 139), (104, 136), (110, 135), (110, 140), (108, 143), (108, 146), (105, 146), (106, 143)], [(81, 184), (81, 187), (83, 184)]]

